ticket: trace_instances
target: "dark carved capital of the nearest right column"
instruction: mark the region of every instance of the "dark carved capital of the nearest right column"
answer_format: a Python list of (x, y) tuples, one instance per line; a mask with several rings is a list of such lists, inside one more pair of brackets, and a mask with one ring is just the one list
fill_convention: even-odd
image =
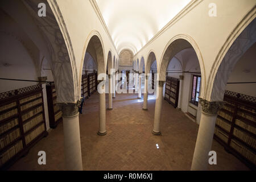
[(217, 115), (218, 110), (220, 110), (224, 106), (225, 102), (224, 101), (210, 102), (199, 97), (199, 104), (202, 106), (202, 111), (205, 114)]

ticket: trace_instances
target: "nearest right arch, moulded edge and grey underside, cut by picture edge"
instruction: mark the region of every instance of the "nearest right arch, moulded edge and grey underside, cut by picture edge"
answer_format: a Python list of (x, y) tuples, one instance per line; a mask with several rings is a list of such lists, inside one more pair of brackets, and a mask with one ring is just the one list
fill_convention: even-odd
[(241, 56), (256, 41), (255, 7), (251, 10), (229, 35), (221, 47), (210, 71), (206, 88), (206, 99), (222, 101), (226, 82)]

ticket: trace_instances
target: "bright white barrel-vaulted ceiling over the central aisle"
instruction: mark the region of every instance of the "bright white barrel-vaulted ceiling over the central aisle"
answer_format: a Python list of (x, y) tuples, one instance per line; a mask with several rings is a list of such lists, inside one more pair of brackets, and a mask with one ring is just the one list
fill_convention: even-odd
[(137, 53), (191, 0), (96, 0), (118, 53)]

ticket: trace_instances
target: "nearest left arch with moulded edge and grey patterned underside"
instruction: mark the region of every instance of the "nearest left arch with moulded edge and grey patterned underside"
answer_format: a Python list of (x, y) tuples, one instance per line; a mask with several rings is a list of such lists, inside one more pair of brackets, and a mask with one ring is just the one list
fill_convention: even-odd
[[(31, 23), (31, 27), (26, 27), (23, 22), (19, 22), (20, 27), (28, 36), (30, 36), (28, 32), (35, 32), (38, 37), (36, 40), (32, 40), (34, 37), (30, 36), (31, 40), (40, 47), (40, 51), (43, 50), (42, 54), (45, 54), (44, 56), (51, 61), (57, 102), (75, 103), (80, 99), (78, 89), (80, 84), (77, 79), (75, 53), (67, 27), (56, 1), (42, 0), (40, 2), (46, 4), (47, 16), (45, 18), (38, 16), (38, 1), (3, 1), (2, 7), (10, 9), (11, 16), (15, 20), (26, 19)], [(19, 13), (20, 19), (16, 19), (16, 13)], [(44, 26), (39, 26), (40, 24), (44, 24)], [(37, 28), (38, 32), (34, 28)]]

